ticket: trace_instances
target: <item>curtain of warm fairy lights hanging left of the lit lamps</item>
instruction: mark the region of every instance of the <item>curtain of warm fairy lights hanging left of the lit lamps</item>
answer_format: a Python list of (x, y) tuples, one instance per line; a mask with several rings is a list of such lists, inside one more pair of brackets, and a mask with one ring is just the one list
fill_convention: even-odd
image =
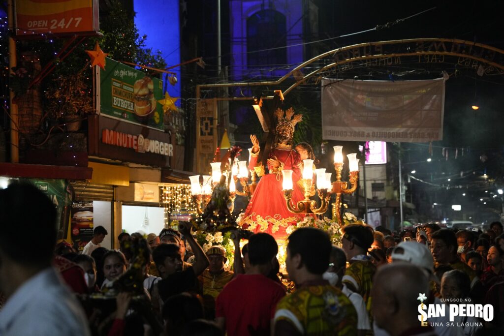
[(161, 186), (161, 202), (164, 208), (164, 224), (169, 225), (170, 214), (196, 214), (190, 184)]

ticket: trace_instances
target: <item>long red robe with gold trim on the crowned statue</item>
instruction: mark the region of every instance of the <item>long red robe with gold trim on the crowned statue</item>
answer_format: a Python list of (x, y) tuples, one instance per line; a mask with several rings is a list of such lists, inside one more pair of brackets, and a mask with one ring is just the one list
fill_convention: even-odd
[[(299, 154), (294, 150), (272, 148), (268, 158), (275, 157), (283, 163), (283, 169), (292, 170), (292, 202), (295, 205), (297, 201), (304, 199), (303, 191), (297, 186), (297, 181), (301, 178), (301, 171), (297, 166), (301, 162)], [(249, 169), (253, 170), (256, 164), (257, 155), (250, 157)], [(285, 229), (302, 220), (305, 215), (289, 211), (282, 190), (282, 172), (271, 172), (270, 165), (268, 168), (270, 173), (261, 177), (238, 224), (243, 229), (253, 229), (255, 233), (266, 232), (276, 239), (283, 239), (287, 236)]]

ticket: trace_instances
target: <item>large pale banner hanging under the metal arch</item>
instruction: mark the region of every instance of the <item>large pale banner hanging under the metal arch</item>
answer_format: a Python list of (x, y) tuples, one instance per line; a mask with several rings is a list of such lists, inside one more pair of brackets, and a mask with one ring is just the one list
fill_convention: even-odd
[(443, 140), (445, 79), (322, 80), (324, 140)]

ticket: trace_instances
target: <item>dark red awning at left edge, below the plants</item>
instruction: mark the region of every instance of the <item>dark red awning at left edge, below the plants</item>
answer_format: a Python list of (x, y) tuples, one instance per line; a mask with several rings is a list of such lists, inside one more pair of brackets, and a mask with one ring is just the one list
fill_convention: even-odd
[(93, 168), (71, 166), (30, 165), (23, 163), (0, 163), (0, 176), (60, 178), (68, 180), (91, 179)]

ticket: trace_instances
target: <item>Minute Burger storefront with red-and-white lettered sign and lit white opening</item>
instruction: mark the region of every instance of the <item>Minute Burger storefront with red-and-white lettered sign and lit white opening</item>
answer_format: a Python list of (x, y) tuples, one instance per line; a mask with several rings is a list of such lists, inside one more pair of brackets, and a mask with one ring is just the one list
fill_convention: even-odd
[(93, 116), (89, 127), (90, 160), (109, 160), (128, 169), (120, 181), (108, 181), (113, 192), (95, 192), (102, 196), (109, 192), (113, 197), (104, 200), (111, 202), (112, 247), (119, 247), (117, 236), (122, 231), (159, 233), (164, 226), (159, 202), (161, 167), (169, 166), (173, 154), (169, 133), (106, 116)]

